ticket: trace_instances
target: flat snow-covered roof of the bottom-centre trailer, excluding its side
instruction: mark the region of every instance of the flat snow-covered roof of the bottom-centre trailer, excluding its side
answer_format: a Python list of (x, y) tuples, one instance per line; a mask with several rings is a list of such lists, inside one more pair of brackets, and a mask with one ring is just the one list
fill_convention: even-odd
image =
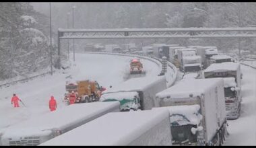
[(41, 145), (129, 145), (168, 116), (168, 110), (108, 113)]

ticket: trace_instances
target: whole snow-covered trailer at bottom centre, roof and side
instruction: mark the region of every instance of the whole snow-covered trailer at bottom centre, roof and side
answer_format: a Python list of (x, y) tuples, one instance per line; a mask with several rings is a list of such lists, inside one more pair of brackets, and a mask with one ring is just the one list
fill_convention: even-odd
[(172, 145), (168, 110), (108, 113), (41, 145)]

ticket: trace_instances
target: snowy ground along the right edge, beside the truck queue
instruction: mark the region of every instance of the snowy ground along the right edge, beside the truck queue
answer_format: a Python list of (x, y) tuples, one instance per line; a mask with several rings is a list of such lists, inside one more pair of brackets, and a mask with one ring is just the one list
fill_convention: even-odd
[(241, 71), (241, 116), (236, 120), (228, 120), (230, 135), (224, 145), (256, 145), (256, 70), (241, 65)]

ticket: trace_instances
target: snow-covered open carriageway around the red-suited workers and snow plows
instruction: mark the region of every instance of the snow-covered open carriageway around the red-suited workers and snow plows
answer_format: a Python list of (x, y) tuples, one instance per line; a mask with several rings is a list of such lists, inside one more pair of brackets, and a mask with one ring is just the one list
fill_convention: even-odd
[[(76, 54), (76, 66), (69, 73), (55, 73), (10, 87), (0, 89), (0, 129), (16, 124), (22, 120), (50, 112), (49, 99), (53, 95), (57, 100), (57, 108), (65, 106), (65, 77), (71, 75), (76, 79), (94, 79), (108, 89), (109, 85), (116, 87), (124, 81), (125, 73), (129, 73), (129, 61), (132, 57), (120, 57), (104, 54)], [(141, 59), (146, 70), (146, 76), (156, 77), (160, 68), (156, 63)], [(15, 93), (22, 102), (20, 108), (13, 108), (11, 96)]]

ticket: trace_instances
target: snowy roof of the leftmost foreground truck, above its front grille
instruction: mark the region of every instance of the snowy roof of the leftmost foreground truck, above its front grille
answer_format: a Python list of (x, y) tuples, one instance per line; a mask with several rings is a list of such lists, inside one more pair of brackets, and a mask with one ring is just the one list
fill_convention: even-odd
[[(113, 109), (119, 108), (119, 102), (93, 102), (85, 104), (72, 104), (56, 110), (55, 112), (48, 112), (42, 116), (25, 120), (13, 126), (3, 129), (3, 137), (9, 137), (10, 135), (17, 135), (13, 132), (20, 131), (20, 129), (26, 129), (27, 132), (21, 133), (22, 135), (34, 135), (38, 131), (44, 131), (46, 129), (63, 129), (70, 124), (75, 124), (78, 121), (95, 118), (98, 114)], [(17, 130), (13, 130), (17, 129)], [(21, 136), (21, 135), (17, 135)]]

